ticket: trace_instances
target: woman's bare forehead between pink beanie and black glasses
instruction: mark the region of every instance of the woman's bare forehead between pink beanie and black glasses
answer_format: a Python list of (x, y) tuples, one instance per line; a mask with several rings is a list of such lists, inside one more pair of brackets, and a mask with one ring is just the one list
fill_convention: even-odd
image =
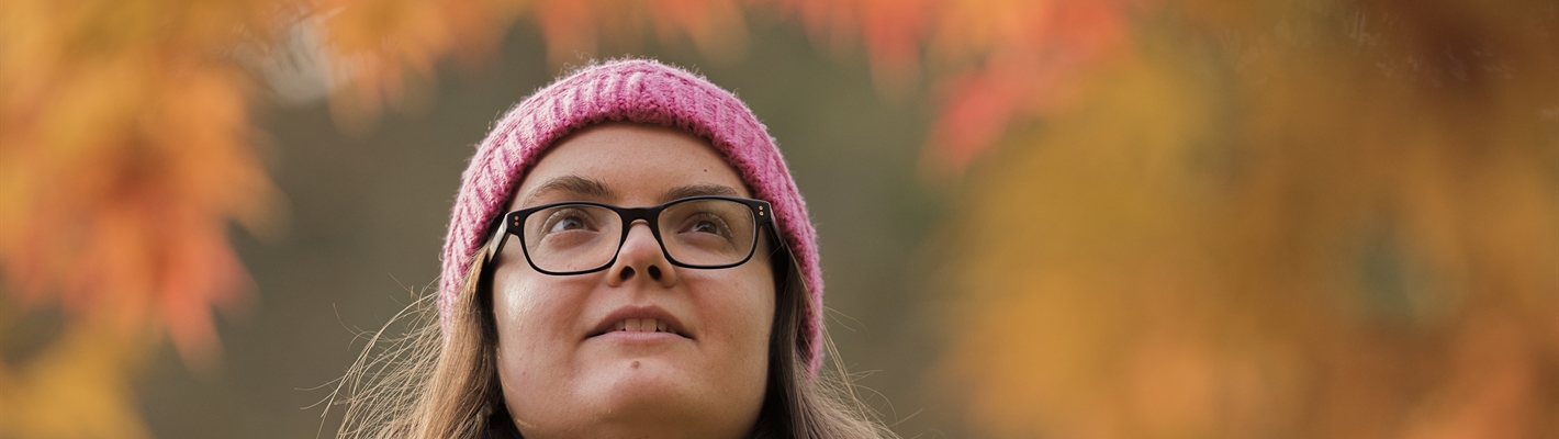
[(558, 140), (525, 173), (510, 207), (574, 199), (653, 205), (697, 195), (751, 196), (706, 140), (672, 128), (608, 123)]

